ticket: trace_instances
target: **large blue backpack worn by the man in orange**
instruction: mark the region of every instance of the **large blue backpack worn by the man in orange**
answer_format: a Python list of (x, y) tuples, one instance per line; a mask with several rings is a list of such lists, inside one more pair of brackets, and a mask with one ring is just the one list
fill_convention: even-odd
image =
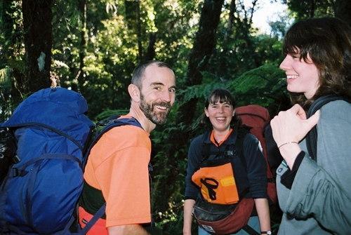
[(67, 234), (83, 188), (84, 152), (95, 124), (82, 95), (45, 88), (1, 128), (13, 130), (17, 159), (0, 189), (0, 234)]

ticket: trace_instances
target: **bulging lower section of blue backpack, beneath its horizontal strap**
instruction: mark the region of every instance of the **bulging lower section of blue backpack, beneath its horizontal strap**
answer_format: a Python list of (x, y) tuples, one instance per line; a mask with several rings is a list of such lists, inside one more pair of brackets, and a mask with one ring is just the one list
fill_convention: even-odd
[(52, 234), (65, 228), (83, 187), (79, 162), (68, 154), (43, 154), (12, 168), (6, 182), (8, 222), (25, 232)]

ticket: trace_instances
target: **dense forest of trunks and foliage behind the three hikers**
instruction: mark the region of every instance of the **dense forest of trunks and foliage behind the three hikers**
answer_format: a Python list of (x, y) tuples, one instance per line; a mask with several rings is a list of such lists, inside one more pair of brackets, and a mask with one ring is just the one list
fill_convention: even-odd
[(133, 68), (167, 62), (178, 93), (168, 123), (151, 135), (153, 213), (164, 234), (182, 234), (187, 149), (202, 132), (206, 95), (228, 88), (239, 105), (274, 116), (289, 107), (279, 70), (289, 26), (326, 15), (351, 25), (348, 0), (271, 1), (288, 10), (260, 34), (252, 22), (259, 0), (0, 0), (0, 122), (50, 86), (84, 95), (93, 121), (125, 114)]

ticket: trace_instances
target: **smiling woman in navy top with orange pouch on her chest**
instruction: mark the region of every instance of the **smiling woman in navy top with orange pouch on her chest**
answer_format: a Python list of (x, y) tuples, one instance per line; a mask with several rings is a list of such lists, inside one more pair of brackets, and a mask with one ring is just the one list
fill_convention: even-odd
[[(201, 222), (201, 219), (197, 217), (197, 221), (201, 225), (199, 226), (199, 235), (214, 234), (215, 231), (216, 234), (223, 234), (223, 231), (220, 230), (223, 227), (225, 227), (225, 234), (247, 234), (243, 227), (237, 227), (237, 224), (231, 222), (231, 215), (225, 218), (222, 217), (223, 220), (220, 221), (223, 221), (223, 223), (220, 222), (218, 227), (216, 227), (218, 224), (211, 223), (211, 226), (208, 225), (208, 222), (213, 221), (213, 215), (216, 215), (216, 205), (240, 208), (238, 205), (242, 205), (242, 203), (247, 205), (246, 199), (249, 201), (251, 199), (252, 204), (254, 201), (257, 213), (252, 213), (249, 206), (244, 206), (246, 208), (245, 211), (235, 210), (236, 212), (233, 212), (234, 209), (232, 209), (230, 212), (234, 215), (239, 214), (241, 218), (246, 218), (246, 220), (244, 219), (244, 224), (249, 224), (250, 230), (255, 230), (258, 234), (260, 231), (265, 231), (261, 232), (261, 234), (270, 233), (265, 159), (257, 138), (251, 134), (243, 134), (244, 128), (241, 128), (241, 119), (235, 114), (235, 107), (236, 101), (226, 89), (213, 90), (206, 99), (202, 123), (208, 130), (203, 135), (199, 135), (192, 140), (188, 152), (187, 176), (185, 177), (184, 235), (191, 234), (192, 209), (196, 207), (204, 209), (208, 203), (213, 203), (213, 205), (210, 205), (211, 218), (207, 217), (205, 222)], [(240, 151), (234, 146), (234, 143), (239, 143), (239, 140), (242, 141), (242, 150)], [(206, 149), (208, 149), (208, 154)], [(227, 154), (236, 152), (236, 150), (238, 150), (237, 152), (240, 156)], [(242, 163), (238, 158), (244, 159), (246, 164)], [(204, 174), (197, 173), (199, 167), (203, 166), (200, 163), (205, 163), (206, 160), (211, 162), (230, 160), (229, 167), (232, 175), (223, 175), (221, 170), (219, 170), (220, 173), (215, 175), (212, 175), (207, 170), (205, 170)], [(218, 182), (216, 179), (219, 178)], [(214, 181), (216, 182), (215, 184), (218, 183), (218, 187), (213, 188), (213, 184), (207, 180), (210, 180), (210, 182)], [(196, 187), (195, 182), (201, 182), (201, 186), (197, 184), (199, 187)], [(232, 194), (220, 194), (220, 192), (223, 192), (223, 188), (232, 187), (232, 182), (235, 182), (235, 188), (240, 199), (239, 202), (236, 201), (236, 197), (233, 197)], [(223, 198), (220, 198), (221, 195), (223, 195)], [(223, 204), (223, 201), (227, 203)], [(233, 201), (235, 202), (233, 203)]]

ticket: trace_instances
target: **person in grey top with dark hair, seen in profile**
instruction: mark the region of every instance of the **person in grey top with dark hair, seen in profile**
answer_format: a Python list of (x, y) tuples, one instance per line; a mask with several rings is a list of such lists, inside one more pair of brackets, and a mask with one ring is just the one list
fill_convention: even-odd
[[(283, 43), (291, 109), (271, 121), (284, 161), (277, 169), (278, 234), (351, 234), (351, 104), (336, 100), (307, 119), (318, 98), (351, 98), (351, 29), (337, 18), (296, 22)], [(306, 136), (317, 124), (316, 159)]]

